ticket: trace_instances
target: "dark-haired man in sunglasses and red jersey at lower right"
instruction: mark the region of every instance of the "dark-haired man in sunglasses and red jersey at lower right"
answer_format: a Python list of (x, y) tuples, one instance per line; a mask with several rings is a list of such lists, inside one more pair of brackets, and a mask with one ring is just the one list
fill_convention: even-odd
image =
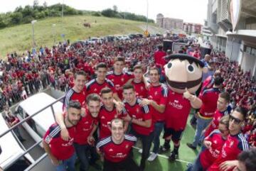
[(245, 136), (241, 133), (242, 126), (245, 123), (245, 118), (247, 115), (247, 110), (242, 107), (237, 107), (230, 114), (229, 126), (230, 135), (225, 141), (220, 155), (208, 168), (208, 171), (229, 171), (233, 170), (234, 167), (228, 168), (228, 162), (230, 160), (236, 160), (238, 155), (245, 150), (249, 149), (249, 144), (245, 139)]

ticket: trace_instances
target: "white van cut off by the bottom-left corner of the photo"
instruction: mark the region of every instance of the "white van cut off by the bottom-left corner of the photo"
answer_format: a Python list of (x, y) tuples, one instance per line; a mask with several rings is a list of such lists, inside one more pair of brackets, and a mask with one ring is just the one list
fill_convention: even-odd
[[(8, 129), (9, 127), (6, 125), (6, 121), (2, 114), (0, 114), (0, 135)], [(16, 139), (18, 140), (18, 138), (14, 138), (14, 135), (11, 132), (6, 133), (0, 138), (0, 146), (2, 150), (0, 155), (0, 166), (6, 171), (16, 170), (16, 168), (21, 167), (25, 169), (28, 165), (34, 162), (33, 158), (28, 153), (21, 157), (25, 148), (21, 148), (22, 146), (18, 144)]]

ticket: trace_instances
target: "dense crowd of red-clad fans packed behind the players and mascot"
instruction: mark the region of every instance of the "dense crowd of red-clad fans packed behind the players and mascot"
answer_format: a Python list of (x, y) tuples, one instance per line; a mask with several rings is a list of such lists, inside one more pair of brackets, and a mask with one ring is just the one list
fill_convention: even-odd
[[(89, 45), (82, 43), (70, 45), (70, 43), (64, 42), (53, 46), (53, 48), (41, 47), (38, 52), (27, 51), (23, 55), (11, 53), (7, 55), (6, 61), (1, 60), (0, 62), (0, 107), (3, 109), (6, 105), (11, 106), (48, 86), (67, 92), (74, 87), (76, 72), (84, 71), (85, 82), (90, 82), (96, 77), (96, 66), (100, 62), (104, 62), (110, 71), (113, 69), (113, 64), (116, 62), (114, 59), (117, 57), (125, 59), (124, 72), (132, 71), (135, 65), (141, 65), (144, 72), (148, 66), (152, 67), (155, 64), (160, 63), (156, 67), (162, 67), (161, 61), (155, 61), (157, 47), (162, 42), (162, 37), (106, 41)], [(223, 79), (223, 82), (218, 89), (230, 94), (228, 106), (231, 109), (236, 109), (237, 106), (247, 109), (242, 133), (245, 134), (250, 146), (256, 147), (255, 78), (251, 76), (250, 72), (244, 72), (238, 62), (230, 61), (223, 53), (212, 52), (208, 59), (204, 59), (198, 52), (199, 48), (200, 45), (193, 43), (193, 45), (184, 46), (178, 52), (169, 51), (167, 53), (188, 53), (204, 60), (203, 62), (208, 65), (207, 77), (213, 77), (216, 70), (220, 71), (219, 77)], [(159, 50), (161, 51), (161, 48)], [(166, 55), (164, 52), (163, 54)], [(161, 75), (164, 75), (164, 70), (161, 70)], [(216, 79), (212, 80), (215, 82)]]

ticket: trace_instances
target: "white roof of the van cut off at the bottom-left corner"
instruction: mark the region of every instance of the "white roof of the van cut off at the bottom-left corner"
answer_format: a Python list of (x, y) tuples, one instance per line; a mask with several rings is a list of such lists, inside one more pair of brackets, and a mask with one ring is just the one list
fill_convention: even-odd
[[(0, 134), (4, 133), (4, 131), (8, 129), (9, 128), (6, 125), (2, 114), (0, 114)], [(11, 132), (6, 133), (6, 135), (0, 138), (0, 145), (2, 149), (2, 153), (0, 155), (0, 166), (4, 169), (13, 164), (13, 162), (21, 157), (21, 154), (24, 152)]]

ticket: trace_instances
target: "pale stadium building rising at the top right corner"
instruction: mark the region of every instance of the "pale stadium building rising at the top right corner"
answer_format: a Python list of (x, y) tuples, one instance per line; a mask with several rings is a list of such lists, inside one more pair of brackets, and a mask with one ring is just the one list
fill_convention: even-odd
[[(231, 1), (241, 2), (235, 30), (231, 24)], [(230, 60), (238, 61), (243, 70), (256, 77), (256, 0), (208, 0), (207, 26), (213, 34), (213, 48), (225, 52)]]

